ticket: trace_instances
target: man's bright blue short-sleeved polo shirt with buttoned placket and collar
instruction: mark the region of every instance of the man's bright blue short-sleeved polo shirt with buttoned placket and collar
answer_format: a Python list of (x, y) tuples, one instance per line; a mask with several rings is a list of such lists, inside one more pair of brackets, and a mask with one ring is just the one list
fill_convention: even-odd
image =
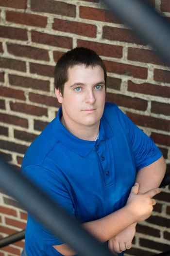
[[(82, 223), (122, 208), (136, 173), (161, 157), (159, 149), (115, 104), (105, 104), (97, 141), (72, 135), (61, 115), (28, 148), (23, 173)], [(28, 214), (28, 256), (60, 255), (52, 245), (63, 242)]]

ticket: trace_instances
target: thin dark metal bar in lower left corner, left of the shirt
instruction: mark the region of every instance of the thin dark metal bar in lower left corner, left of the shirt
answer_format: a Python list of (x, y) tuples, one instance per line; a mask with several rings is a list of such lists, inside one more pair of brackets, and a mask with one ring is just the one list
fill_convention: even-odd
[(25, 230), (22, 230), (22, 231), (17, 232), (13, 235), (4, 237), (4, 238), (0, 239), (0, 248), (5, 247), (9, 244), (18, 242), (18, 241), (20, 241), (24, 238), (25, 238)]

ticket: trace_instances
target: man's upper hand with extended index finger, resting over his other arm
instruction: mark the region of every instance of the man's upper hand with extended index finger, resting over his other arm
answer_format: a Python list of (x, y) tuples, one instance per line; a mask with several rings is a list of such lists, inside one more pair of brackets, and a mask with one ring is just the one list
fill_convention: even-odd
[(137, 195), (138, 192), (139, 184), (136, 183), (131, 189), (131, 193), (125, 206), (129, 209), (129, 214), (135, 217), (135, 222), (143, 221), (151, 216), (153, 205), (156, 204), (155, 199), (152, 197), (160, 193), (161, 190), (159, 188), (153, 188), (144, 194)]

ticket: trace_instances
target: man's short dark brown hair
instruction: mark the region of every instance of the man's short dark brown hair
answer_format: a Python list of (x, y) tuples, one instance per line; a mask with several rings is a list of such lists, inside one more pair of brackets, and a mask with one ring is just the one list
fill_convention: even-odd
[(54, 85), (61, 94), (64, 92), (64, 84), (68, 81), (68, 68), (75, 65), (84, 64), (86, 67), (101, 66), (104, 71), (104, 81), (106, 86), (107, 73), (102, 59), (97, 53), (85, 47), (76, 47), (65, 53), (56, 63), (54, 71)]

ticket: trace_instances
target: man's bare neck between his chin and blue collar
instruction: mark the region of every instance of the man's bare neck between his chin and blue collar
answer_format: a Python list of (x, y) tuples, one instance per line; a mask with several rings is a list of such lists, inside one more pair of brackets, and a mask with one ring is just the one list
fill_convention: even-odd
[(74, 125), (74, 128), (72, 128), (72, 126), (65, 121), (63, 116), (61, 117), (61, 122), (66, 127), (66, 129), (77, 138), (81, 138), (85, 140), (95, 140), (99, 133), (100, 122), (98, 124), (91, 125), (91, 126), (84, 125), (81, 127), (80, 126), (75, 127)]

